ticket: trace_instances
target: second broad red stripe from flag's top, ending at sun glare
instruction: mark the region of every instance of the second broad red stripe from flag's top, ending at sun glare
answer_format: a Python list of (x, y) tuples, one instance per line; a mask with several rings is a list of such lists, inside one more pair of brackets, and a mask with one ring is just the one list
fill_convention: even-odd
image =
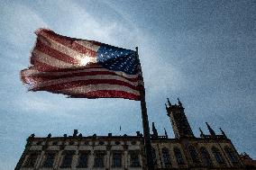
[(68, 55), (66, 55), (64, 53), (61, 53), (61, 52), (59, 52), (56, 49), (51, 49), (49, 46), (43, 44), (41, 42), (41, 40), (39, 40), (39, 39), (37, 40), (36, 46), (35, 46), (34, 49), (38, 49), (42, 53), (47, 54), (47, 55), (49, 55), (52, 58), (57, 58), (57, 59), (59, 59), (61, 61), (64, 61), (66, 63), (78, 64), (78, 60), (77, 59), (71, 58)]

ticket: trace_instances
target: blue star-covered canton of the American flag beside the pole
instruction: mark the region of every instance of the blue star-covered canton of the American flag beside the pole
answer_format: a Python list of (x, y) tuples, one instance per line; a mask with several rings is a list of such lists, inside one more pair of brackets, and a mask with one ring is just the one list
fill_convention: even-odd
[(110, 70), (134, 75), (137, 73), (139, 59), (133, 50), (101, 45), (97, 50), (97, 63)]

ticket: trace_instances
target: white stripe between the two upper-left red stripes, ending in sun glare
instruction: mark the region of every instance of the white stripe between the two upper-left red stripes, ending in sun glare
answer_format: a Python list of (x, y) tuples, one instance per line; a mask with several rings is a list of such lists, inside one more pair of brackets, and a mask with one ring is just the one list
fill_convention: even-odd
[[(47, 36), (47, 35), (44, 35)], [(61, 43), (55, 41), (55, 40), (51, 40), (48, 37), (42, 37), (42, 36), (38, 36), (38, 39), (41, 40), (41, 42), (44, 45), (49, 46), (51, 49), (56, 49), (59, 52), (62, 52), (66, 55), (68, 55), (70, 58), (75, 58), (78, 61), (82, 60), (83, 58), (88, 58), (88, 60), (91, 60), (91, 62), (96, 62), (96, 57), (90, 57), (89, 53), (88, 54), (84, 54), (84, 53), (80, 53), (77, 50), (74, 49), (69, 49), (67, 46), (62, 45)]]

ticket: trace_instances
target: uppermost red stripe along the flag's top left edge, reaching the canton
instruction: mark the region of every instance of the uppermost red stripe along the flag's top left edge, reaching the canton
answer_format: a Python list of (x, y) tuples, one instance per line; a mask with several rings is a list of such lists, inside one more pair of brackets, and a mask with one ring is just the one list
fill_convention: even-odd
[(92, 49), (87, 49), (86, 47), (75, 42), (75, 40), (78, 40), (78, 39), (65, 37), (65, 36), (55, 33), (54, 31), (45, 30), (45, 29), (36, 31), (36, 34), (38, 36), (42, 36), (42, 37), (45, 37), (45, 38), (48, 38), (51, 40), (55, 40), (55, 41), (59, 42), (60, 44), (68, 47), (69, 49), (74, 49), (80, 53), (87, 54), (91, 57), (96, 57), (96, 51), (94, 51)]

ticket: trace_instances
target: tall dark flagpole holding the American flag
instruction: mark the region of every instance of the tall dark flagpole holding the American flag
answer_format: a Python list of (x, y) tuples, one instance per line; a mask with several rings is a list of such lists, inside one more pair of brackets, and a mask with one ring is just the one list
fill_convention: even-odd
[[(136, 47), (135, 55), (140, 61), (139, 54), (138, 54), (138, 47)], [(143, 76), (142, 76), (142, 81), (143, 81)], [(146, 151), (146, 157), (147, 157), (147, 166), (149, 170), (153, 170), (154, 164), (153, 164), (152, 149), (151, 149), (151, 133), (150, 133), (150, 127), (149, 127), (149, 121), (148, 121), (144, 86), (140, 90), (140, 96), (141, 96), (142, 126), (143, 126), (143, 134), (144, 134), (144, 145), (145, 145), (145, 151)]]

